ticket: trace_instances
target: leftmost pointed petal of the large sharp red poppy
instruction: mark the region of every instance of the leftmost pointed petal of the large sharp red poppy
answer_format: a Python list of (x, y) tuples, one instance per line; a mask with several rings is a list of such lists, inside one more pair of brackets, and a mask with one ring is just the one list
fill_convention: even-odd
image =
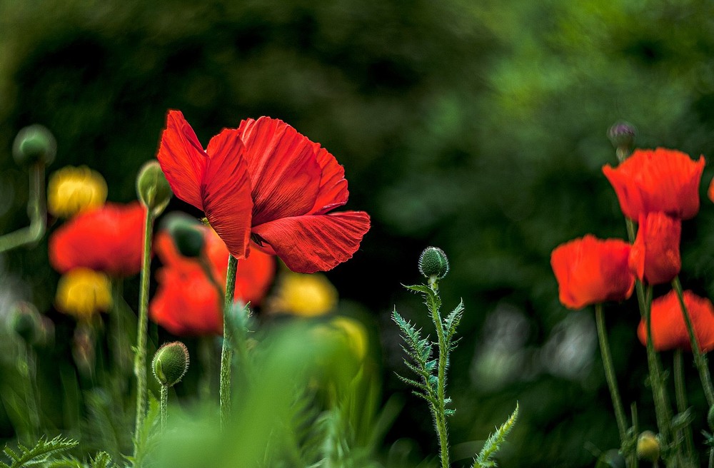
[(166, 129), (161, 134), (159, 154), (161, 170), (174, 194), (186, 203), (203, 210), (201, 181), (206, 171), (208, 156), (198, 143), (196, 133), (179, 111), (169, 111)]

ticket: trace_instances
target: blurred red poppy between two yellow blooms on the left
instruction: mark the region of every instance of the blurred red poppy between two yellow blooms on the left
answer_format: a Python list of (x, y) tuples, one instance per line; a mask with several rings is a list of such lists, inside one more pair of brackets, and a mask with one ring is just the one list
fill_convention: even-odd
[(145, 215), (139, 202), (76, 215), (50, 235), (50, 264), (59, 273), (78, 267), (117, 277), (139, 273)]

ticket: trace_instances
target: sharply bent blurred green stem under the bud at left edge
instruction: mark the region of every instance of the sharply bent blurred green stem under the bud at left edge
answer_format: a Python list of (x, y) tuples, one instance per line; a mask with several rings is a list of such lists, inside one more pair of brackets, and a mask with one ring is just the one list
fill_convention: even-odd
[(35, 243), (42, 238), (46, 230), (44, 164), (35, 163), (30, 168), (30, 190), (27, 200), (27, 215), (30, 225), (0, 237), (0, 253), (21, 245)]

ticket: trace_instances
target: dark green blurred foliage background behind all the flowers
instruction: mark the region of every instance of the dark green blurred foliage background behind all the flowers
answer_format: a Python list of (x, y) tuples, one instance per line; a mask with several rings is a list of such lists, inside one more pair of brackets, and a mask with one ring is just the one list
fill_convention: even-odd
[[(404, 368), (389, 315), (396, 305), (428, 325), (401, 284), (418, 282), (418, 254), (438, 245), (452, 265), (446, 306), (466, 303), (449, 387), (455, 459), (466, 464), (518, 401), (502, 466), (590, 467), (618, 434), (592, 310), (560, 305), (550, 252), (585, 233), (626, 235), (600, 171), (615, 163), (615, 121), (635, 124), (640, 147), (714, 158), (713, 30), (705, 0), (4, 0), (0, 232), (27, 223), (26, 173), (11, 158), (23, 126), (54, 132), (51, 170), (90, 166), (109, 200), (126, 202), (167, 109), (204, 143), (242, 118), (281, 118), (336, 156), (346, 208), (372, 217), (328, 278), (372, 332), (383, 401), (403, 402), (381, 451), (415, 463), (436, 453), (426, 407), (394, 376)], [(708, 297), (713, 173), (682, 245), (683, 284)], [(46, 243), (0, 268), (0, 313), (18, 298), (53, 313)], [(606, 311), (623, 400), (653, 429), (636, 304)], [(688, 372), (698, 434), (705, 404)], [(14, 436), (2, 409), (0, 435)]]

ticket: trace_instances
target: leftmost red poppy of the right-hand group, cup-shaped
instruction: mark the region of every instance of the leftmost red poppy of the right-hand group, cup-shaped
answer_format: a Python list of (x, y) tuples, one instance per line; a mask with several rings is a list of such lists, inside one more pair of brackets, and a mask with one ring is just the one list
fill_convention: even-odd
[(628, 267), (629, 255), (630, 244), (624, 240), (593, 235), (558, 245), (550, 254), (550, 266), (558, 280), (560, 302), (581, 309), (630, 297), (635, 277)]

